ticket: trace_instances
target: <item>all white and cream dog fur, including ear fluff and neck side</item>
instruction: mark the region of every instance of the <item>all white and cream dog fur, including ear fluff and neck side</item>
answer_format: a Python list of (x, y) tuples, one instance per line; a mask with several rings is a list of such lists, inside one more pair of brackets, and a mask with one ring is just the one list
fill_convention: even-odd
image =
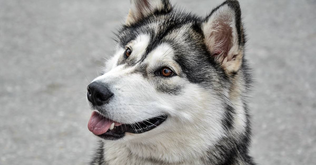
[[(132, 1), (127, 24), (152, 11), (152, 7), (161, 8), (161, 1), (150, 1), (149, 8), (139, 6), (141, 1)], [(230, 38), (231, 48), (228, 56), (217, 60), (229, 71), (236, 69), (242, 53), (238, 47), (238, 36), (235, 27), (234, 11), (227, 5), (221, 7), (210, 19), (204, 23), (203, 32), (206, 44), (210, 51), (220, 49), (221, 42), (215, 42), (216, 32), (214, 25), (218, 18), (225, 17), (232, 28)], [(191, 26), (188, 24), (187, 26)], [(152, 25), (153, 28), (159, 28)], [(177, 32), (167, 34), (165, 38), (177, 40), (184, 46), (190, 46), (185, 42), (183, 34), (187, 32), (185, 26)], [(129, 59), (139, 61), (149, 43), (149, 35), (142, 34), (137, 39), (129, 42), (126, 46), (132, 48)], [(223, 41), (224, 42), (224, 41)], [(126, 67), (124, 64), (117, 65), (122, 58), (125, 49), (117, 47), (115, 56), (112, 57), (104, 69), (105, 74), (93, 81), (109, 85), (114, 97), (103, 108), (112, 120), (132, 124), (144, 121), (151, 117), (166, 114), (167, 120), (158, 127), (140, 134), (126, 133), (125, 137), (116, 141), (103, 140), (105, 159), (109, 165), (114, 164), (202, 164), (201, 157), (206, 157), (207, 151), (218, 144), (218, 140), (228, 136), (227, 130), (222, 125), (225, 117), (223, 100), (212, 89), (205, 89), (197, 84), (189, 82), (183, 71), (174, 61), (172, 45), (163, 43), (151, 51), (143, 62), (135, 66)], [(234, 55), (238, 55), (233, 59)], [(127, 59), (128, 60), (128, 59)], [(147, 77), (134, 72), (139, 65), (147, 66)], [(168, 66), (178, 75), (169, 79), (158, 79), (153, 70)], [(237, 67), (238, 68), (238, 67)], [(239, 80), (236, 80), (239, 81)], [(170, 95), (157, 91), (159, 85), (180, 85), (181, 91), (177, 95)], [(237, 84), (238, 85), (238, 84)], [(235, 87), (239, 88), (239, 87)], [(233, 135), (238, 136), (246, 128), (246, 115), (240, 99), (240, 90), (222, 92), (222, 96), (230, 99), (236, 115), (234, 115)], [(231, 95), (233, 94), (233, 95)], [(137, 126), (136, 126), (137, 127)], [(231, 135), (231, 134), (230, 134)]]

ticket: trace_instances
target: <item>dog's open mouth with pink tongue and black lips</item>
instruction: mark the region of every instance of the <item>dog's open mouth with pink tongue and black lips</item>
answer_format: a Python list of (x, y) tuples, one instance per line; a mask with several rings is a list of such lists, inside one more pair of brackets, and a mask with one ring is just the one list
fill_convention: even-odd
[(125, 133), (144, 133), (158, 127), (167, 119), (166, 115), (159, 115), (133, 124), (122, 124), (93, 111), (88, 122), (88, 129), (93, 134), (106, 140), (123, 138)]

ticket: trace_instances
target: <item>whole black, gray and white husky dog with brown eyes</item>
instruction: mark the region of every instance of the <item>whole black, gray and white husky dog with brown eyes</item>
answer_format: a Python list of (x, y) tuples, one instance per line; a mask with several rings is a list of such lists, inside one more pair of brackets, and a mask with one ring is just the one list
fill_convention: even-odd
[(116, 52), (88, 85), (95, 165), (250, 165), (250, 70), (240, 6), (206, 17), (131, 0)]

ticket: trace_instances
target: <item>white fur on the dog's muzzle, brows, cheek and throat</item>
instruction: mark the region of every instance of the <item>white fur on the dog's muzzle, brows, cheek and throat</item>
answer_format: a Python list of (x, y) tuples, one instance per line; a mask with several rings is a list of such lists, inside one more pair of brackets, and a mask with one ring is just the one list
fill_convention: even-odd
[[(143, 48), (148, 39), (145, 39), (145, 35), (141, 38), (130, 43), (133, 47), (130, 57), (138, 58), (145, 51)], [(132, 164), (133, 159), (138, 157), (175, 164), (185, 160), (193, 161), (189, 164), (200, 163), (199, 156), (216, 144), (216, 140), (225, 136), (221, 125), (224, 107), (214, 91), (205, 90), (181, 76), (175, 76), (169, 83), (185, 84), (181, 94), (174, 96), (158, 92), (155, 90), (155, 80), (146, 80), (136, 73), (130, 74), (136, 66), (124, 69), (124, 65), (115, 65), (115, 60), (123, 55), (124, 50), (119, 48), (116, 52), (116, 56), (110, 60), (112, 65), (105, 69), (107, 73), (93, 80), (111, 86), (115, 97), (106, 105), (111, 119), (136, 123), (161, 114), (167, 114), (168, 118), (148, 132), (127, 133), (121, 140), (105, 141), (106, 160), (110, 164)], [(180, 67), (172, 57), (171, 46), (161, 44), (148, 55), (145, 63), (149, 68), (167, 65), (181, 74)], [(129, 156), (129, 152), (135, 157), (124, 157)], [(149, 162), (145, 161), (144, 164)]]

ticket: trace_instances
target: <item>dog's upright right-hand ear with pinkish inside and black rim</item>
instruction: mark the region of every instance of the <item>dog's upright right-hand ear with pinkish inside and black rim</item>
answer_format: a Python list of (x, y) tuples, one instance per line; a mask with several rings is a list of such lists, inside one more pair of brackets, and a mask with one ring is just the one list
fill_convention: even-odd
[(237, 72), (243, 59), (245, 35), (236, 0), (227, 0), (213, 9), (202, 24), (204, 42), (227, 74)]

